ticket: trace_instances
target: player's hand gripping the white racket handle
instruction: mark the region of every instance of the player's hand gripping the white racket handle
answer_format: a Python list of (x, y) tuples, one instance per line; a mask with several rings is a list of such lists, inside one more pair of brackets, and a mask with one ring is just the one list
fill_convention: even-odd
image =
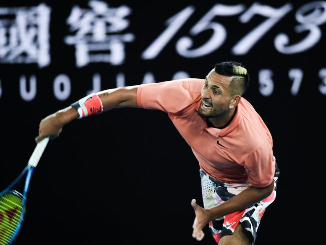
[(39, 135), (35, 138), (36, 143), (39, 143), (46, 137), (50, 137), (50, 139), (57, 138), (60, 135), (63, 126), (64, 124), (61, 122), (57, 113), (43, 118), (39, 126)]

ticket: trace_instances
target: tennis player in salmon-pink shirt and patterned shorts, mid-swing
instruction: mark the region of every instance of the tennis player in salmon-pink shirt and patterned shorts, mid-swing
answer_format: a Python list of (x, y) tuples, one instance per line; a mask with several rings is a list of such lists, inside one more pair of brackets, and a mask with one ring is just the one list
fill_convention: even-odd
[(90, 94), (44, 118), (36, 142), (59, 136), (75, 118), (112, 108), (139, 107), (168, 113), (200, 166), (204, 208), (195, 210), (193, 237), (209, 224), (220, 245), (254, 244), (260, 220), (276, 197), (278, 168), (272, 137), (242, 97), (247, 70), (237, 62), (215, 65), (205, 79), (119, 87)]

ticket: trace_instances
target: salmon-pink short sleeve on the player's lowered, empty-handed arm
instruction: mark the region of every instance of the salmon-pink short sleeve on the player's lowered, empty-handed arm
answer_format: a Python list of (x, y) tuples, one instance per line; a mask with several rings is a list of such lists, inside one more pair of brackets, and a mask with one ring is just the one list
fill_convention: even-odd
[(267, 146), (260, 146), (251, 153), (244, 163), (249, 183), (254, 187), (266, 187), (274, 178), (275, 158)]

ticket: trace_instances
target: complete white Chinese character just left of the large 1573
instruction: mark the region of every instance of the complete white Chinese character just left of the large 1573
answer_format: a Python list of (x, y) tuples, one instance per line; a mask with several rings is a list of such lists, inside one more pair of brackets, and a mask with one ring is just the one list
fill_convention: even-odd
[(129, 26), (125, 19), (131, 9), (127, 6), (109, 8), (100, 1), (90, 1), (91, 9), (74, 6), (67, 24), (74, 36), (67, 36), (65, 42), (75, 45), (76, 66), (105, 62), (121, 65), (125, 59), (125, 44), (134, 40), (132, 33), (124, 33)]

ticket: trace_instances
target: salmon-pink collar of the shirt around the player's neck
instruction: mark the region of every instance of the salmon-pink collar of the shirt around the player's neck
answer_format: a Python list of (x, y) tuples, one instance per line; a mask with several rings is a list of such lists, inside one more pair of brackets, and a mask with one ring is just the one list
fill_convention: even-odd
[[(198, 111), (199, 106), (201, 104), (201, 100), (197, 103), (197, 105), (195, 106), (195, 109)], [(216, 137), (225, 137), (228, 134), (230, 134), (235, 128), (237, 128), (237, 126), (240, 124), (241, 121), (241, 102), (237, 105), (237, 111), (232, 119), (232, 121), (230, 122), (230, 124), (225, 127), (224, 129), (217, 129), (217, 128), (213, 128), (213, 127), (209, 127), (207, 124), (207, 118), (203, 118), (202, 119), (206, 122), (206, 127), (204, 128), (204, 130), (208, 131), (211, 135), (216, 136)]]

